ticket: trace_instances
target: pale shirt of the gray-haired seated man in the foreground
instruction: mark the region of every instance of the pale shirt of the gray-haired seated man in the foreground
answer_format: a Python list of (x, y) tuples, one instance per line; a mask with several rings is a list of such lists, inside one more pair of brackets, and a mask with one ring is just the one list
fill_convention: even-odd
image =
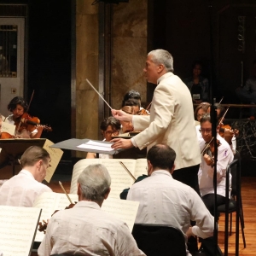
[(56, 212), (49, 219), (38, 256), (55, 253), (145, 255), (138, 249), (128, 226), (103, 212), (93, 201), (79, 201), (72, 209)]

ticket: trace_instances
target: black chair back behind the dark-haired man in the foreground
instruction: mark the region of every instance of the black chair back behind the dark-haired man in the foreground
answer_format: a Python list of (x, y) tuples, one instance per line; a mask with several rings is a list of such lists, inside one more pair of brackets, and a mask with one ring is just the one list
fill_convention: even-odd
[(147, 256), (186, 256), (183, 232), (170, 225), (134, 224), (131, 232)]

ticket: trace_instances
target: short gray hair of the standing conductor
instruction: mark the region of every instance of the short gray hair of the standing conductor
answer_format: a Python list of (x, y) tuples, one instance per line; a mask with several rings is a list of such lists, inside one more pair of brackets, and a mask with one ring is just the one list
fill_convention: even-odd
[(167, 72), (173, 72), (173, 58), (166, 49), (154, 49), (148, 52), (148, 55), (151, 55), (154, 64), (162, 64), (166, 67)]

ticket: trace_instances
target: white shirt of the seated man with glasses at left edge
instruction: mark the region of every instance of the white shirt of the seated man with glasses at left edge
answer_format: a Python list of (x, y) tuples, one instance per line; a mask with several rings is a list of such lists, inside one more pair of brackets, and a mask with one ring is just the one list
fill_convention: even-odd
[(38, 195), (52, 190), (39, 183), (31, 172), (21, 170), (0, 188), (0, 205), (11, 207), (32, 207)]

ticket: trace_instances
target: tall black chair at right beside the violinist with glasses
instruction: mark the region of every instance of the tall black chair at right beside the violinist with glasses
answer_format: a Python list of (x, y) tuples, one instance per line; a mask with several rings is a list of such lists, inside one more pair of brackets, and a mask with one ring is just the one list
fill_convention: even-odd
[[(229, 199), (230, 173), (232, 175), (231, 198)], [(241, 223), (241, 235), (243, 245), (246, 247), (244, 236), (244, 218), (241, 204), (241, 158), (236, 151), (234, 160), (227, 166), (226, 171), (226, 201), (224, 205), (218, 206), (218, 212), (225, 213), (225, 234), (224, 234), (224, 256), (228, 256), (229, 250), (229, 215), (230, 215), (230, 236), (232, 233), (232, 212), (236, 212), (236, 256), (239, 254), (239, 221)], [(228, 209), (226, 211), (226, 209)]]

